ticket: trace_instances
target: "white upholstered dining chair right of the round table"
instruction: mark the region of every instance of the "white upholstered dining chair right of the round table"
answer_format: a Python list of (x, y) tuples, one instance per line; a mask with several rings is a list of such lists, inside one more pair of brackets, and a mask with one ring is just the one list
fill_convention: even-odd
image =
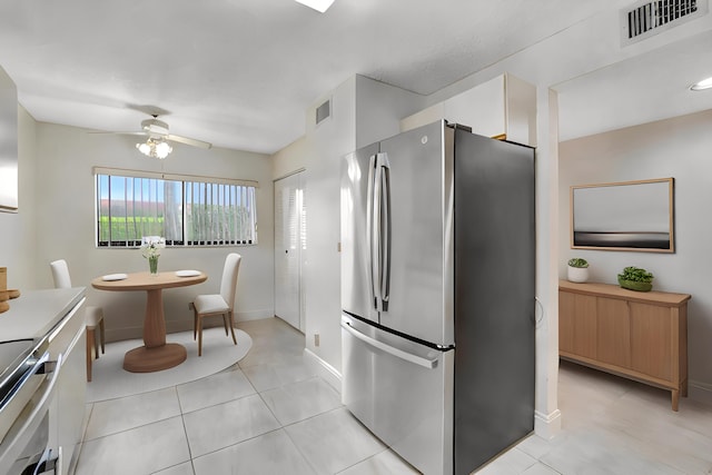
[(210, 295), (198, 295), (192, 301), (194, 325), (192, 339), (198, 337), (198, 356), (202, 356), (202, 319), (205, 317), (222, 316), (222, 325), (225, 326), (225, 336), (228, 336), (228, 326), (233, 334), (233, 342), (237, 345), (235, 338), (235, 295), (237, 294), (237, 275), (240, 270), (240, 261), (243, 257), (237, 253), (230, 253), (225, 258), (222, 267), (222, 279), (220, 280), (220, 293)]

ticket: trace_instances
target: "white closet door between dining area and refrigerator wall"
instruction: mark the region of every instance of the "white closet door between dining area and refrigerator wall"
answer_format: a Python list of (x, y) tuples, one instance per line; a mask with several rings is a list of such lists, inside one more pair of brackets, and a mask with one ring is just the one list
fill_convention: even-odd
[(304, 171), (275, 181), (275, 315), (304, 331)]

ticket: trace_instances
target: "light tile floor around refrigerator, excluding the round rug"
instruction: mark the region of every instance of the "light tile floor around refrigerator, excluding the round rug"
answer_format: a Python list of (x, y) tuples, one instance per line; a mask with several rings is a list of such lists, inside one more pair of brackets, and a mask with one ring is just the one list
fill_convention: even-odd
[[(277, 318), (239, 325), (239, 364), (167, 389), (87, 406), (77, 475), (417, 473), (342, 406), (304, 359), (304, 335)], [(712, 474), (712, 407), (562, 364), (563, 431), (530, 436), (482, 475)]]

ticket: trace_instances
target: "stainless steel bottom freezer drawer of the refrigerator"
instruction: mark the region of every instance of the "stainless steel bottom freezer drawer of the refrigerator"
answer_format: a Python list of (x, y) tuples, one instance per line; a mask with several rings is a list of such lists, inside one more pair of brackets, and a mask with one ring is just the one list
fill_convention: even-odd
[(424, 474), (453, 473), (455, 350), (342, 316), (344, 405)]

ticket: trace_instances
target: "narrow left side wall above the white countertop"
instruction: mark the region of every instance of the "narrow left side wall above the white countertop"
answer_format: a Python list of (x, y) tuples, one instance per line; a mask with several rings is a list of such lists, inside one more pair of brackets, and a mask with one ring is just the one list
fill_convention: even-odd
[[(34, 120), (18, 107), (18, 209), (0, 212), (0, 267), (8, 268), (8, 288), (36, 288), (38, 241), (36, 235), (36, 138)], [(12, 304), (12, 303), (10, 303)]]

